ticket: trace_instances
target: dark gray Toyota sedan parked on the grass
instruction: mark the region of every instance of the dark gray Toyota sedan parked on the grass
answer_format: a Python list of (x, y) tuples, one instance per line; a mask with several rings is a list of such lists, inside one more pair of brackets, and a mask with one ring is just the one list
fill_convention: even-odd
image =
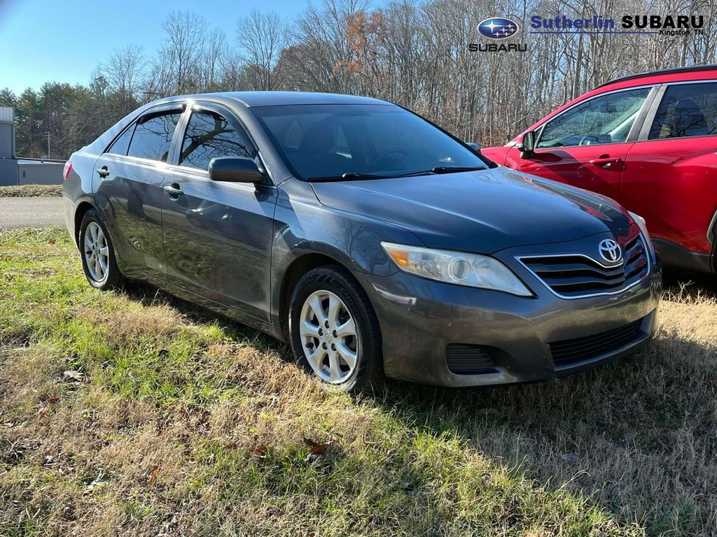
[(379, 100), (151, 102), (72, 155), (65, 200), (92, 286), (148, 281), (288, 342), (341, 390), (551, 379), (655, 330), (639, 216)]

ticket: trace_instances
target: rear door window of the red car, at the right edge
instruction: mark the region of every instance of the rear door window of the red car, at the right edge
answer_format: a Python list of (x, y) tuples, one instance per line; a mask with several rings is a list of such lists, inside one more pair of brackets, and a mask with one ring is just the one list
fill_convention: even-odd
[(668, 86), (650, 140), (683, 136), (708, 136), (717, 131), (717, 84), (679, 84)]

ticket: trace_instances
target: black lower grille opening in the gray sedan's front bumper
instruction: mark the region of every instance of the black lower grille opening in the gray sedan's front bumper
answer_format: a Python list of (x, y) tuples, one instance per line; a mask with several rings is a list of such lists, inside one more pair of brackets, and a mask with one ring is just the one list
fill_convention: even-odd
[(550, 352), (553, 355), (553, 362), (556, 367), (561, 367), (615, 351), (635, 339), (636, 334), (640, 332), (641, 324), (642, 319), (639, 319), (601, 334), (551, 343)]

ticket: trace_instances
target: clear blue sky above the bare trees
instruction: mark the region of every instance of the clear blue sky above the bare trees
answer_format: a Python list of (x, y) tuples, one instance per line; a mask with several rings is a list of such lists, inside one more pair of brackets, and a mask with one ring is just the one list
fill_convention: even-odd
[(234, 39), (237, 19), (252, 8), (291, 19), (307, 5), (308, 0), (0, 0), (0, 89), (19, 94), (44, 82), (87, 84), (92, 69), (128, 44), (152, 56), (163, 37), (162, 21), (173, 9), (191, 9)]

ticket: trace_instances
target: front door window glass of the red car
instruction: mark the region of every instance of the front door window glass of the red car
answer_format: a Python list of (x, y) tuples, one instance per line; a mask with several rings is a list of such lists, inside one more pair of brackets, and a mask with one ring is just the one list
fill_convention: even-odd
[(582, 102), (550, 120), (536, 148), (626, 142), (648, 93), (649, 87), (641, 87)]

